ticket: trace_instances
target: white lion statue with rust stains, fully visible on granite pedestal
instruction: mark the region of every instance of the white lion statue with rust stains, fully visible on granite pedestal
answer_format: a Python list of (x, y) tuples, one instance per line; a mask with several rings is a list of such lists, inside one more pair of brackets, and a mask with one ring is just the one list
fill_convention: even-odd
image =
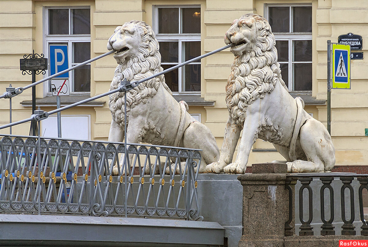
[[(268, 21), (256, 14), (234, 20), (225, 43), (235, 60), (226, 84), (229, 110), (219, 161), (207, 172), (244, 173), (257, 138), (272, 142), (286, 159), (288, 172), (328, 172), (335, 165), (335, 148), (325, 126), (304, 110), (282, 80), (275, 37)], [(240, 137), (238, 154), (234, 151)], [(274, 161), (280, 162), (280, 161)]]

